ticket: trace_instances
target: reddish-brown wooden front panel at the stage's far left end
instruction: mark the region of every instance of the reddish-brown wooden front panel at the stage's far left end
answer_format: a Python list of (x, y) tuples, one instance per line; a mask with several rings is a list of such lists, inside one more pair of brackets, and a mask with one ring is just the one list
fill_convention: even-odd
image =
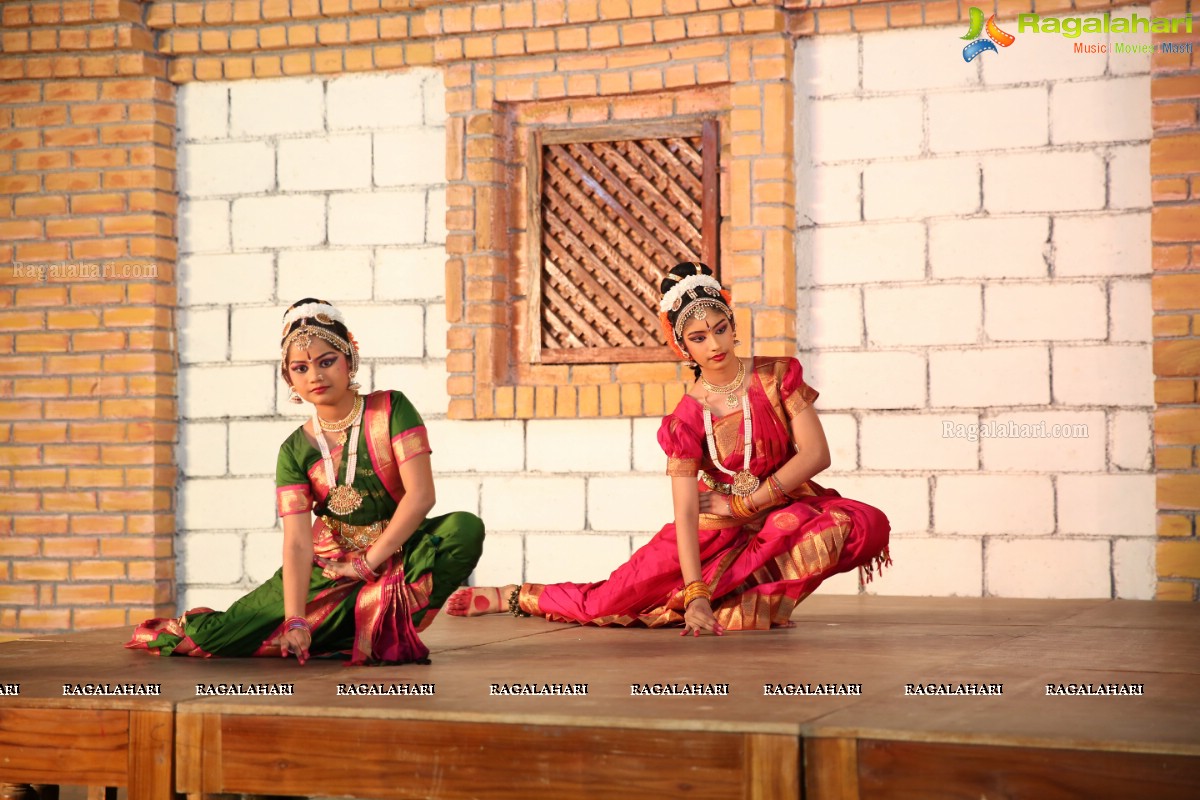
[(130, 712), (0, 708), (0, 781), (127, 786)]

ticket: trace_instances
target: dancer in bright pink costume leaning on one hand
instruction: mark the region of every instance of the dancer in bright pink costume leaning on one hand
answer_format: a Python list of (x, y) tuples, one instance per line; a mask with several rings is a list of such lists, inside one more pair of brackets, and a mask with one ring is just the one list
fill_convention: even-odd
[(607, 581), (461, 589), (448, 613), (721, 634), (791, 625), (828, 576), (890, 564), (887, 517), (811, 480), (829, 450), (799, 362), (734, 354), (730, 295), (706, 265), (677, 265), (661, 291), (667, 341), (697, 378), (659, 428), (674, 523)]

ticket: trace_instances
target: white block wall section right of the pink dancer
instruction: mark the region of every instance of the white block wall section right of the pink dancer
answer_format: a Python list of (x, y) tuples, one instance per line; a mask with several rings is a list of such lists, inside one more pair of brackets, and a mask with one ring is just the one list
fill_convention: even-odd
[[(948, 68), (956, 34), (797, 46), (828, 481), (892, 516), (870, 591), (1152, 597), (1150, 55), (1021, 36)], [(1086, 435), (942, 432), (1009, 422)]]

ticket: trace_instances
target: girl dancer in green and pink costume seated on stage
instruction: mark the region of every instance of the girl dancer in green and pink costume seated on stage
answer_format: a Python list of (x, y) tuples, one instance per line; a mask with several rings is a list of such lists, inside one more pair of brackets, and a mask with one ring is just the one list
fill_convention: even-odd
[[(280, 446), (283, 567), (228, 610), (140, 625), (127, 648), (176, 656), (348, 651), (352, 664), (427, 662), (416, 632), (479, 561), (484, 524), (433, 507), (430, 445), (404, 395), (359, 395), (341, 312), (306, 297), (283, 317), (282, 372), (312, 419)], [(313, 522), (311, 512), (316, 511)]]

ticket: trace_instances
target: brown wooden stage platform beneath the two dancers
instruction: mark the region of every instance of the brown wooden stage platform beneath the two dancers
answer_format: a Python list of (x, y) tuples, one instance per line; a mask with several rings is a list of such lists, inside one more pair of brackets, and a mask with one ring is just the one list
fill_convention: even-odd
[[(131, 799), (1200, 796), (1194, 604), (816, 596), (792, 619), (680, 638), (443, 616), (424, 636), (432, 664), (378, 668), (156, 658), (121, 649), (126, 631), (10, 642), (0, 686), (20, 693), (0, 694), (0, 782), (125, 786)], [(64, 697), (65, 684), (162, 693)], [(198, 697), (198, 684), (294, 693)], [(559, 684), (587, 693), (493, 688)], [(632, 694), (697, 684), (728, 693)], [(764, 696), (829, 684), (860, 693)], [(960, 693), (980, 685), (992, 693)]]

